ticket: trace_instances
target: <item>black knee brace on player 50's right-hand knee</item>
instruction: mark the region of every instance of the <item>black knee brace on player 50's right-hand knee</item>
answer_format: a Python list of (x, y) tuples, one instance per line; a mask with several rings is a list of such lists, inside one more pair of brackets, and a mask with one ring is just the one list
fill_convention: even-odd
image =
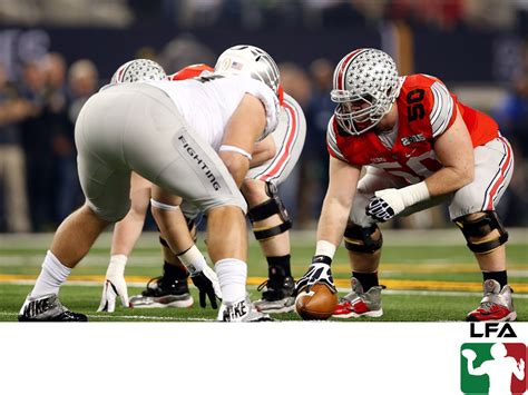
[[(485, 215), (478, 219), (469, 220), (463, 217), (454, 219), (463, 237), (468, 241), (468, 248), (475, 254), (489, 254), (508, 241), (508, 233), (505, 230), (496, 211), (482, 211)], [(497, 229), (499, 235), (491, 235)], [(471, 240), (477, 238), (477, 240)]]

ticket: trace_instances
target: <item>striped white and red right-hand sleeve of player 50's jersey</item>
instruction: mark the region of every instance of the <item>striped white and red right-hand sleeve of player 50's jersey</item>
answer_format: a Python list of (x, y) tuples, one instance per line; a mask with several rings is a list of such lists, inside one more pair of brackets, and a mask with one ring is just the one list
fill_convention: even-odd
[(449, 93), (448, 88), (437, 80), (431, 85), (431, 122), (432, 138), (441, 136), (454, 122), (457, 118), (457, 105)]

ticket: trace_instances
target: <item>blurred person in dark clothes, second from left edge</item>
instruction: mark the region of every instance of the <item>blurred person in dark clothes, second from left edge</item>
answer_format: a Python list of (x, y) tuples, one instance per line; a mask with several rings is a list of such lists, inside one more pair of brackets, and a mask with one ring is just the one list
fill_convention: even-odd
[(46, 75), (42, 65), (29, 62), (22, 70), (22, 97), (32, 106), (32, 116), (22, 124), (27, 159), (29, 208), (33, 230), (51, 229), (55, 225), (52, 131), (43, 118)]

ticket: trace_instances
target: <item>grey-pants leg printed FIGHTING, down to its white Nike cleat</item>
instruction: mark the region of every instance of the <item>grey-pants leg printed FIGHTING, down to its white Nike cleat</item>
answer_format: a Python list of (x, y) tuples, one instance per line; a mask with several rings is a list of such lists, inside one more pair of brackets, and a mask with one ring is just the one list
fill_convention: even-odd
[[(141, 86), (141, 89), (149, 88)], [(155, 113), (157, 139), (149, 141), (154, 146), (150, 148), (156, 157), (169, 157), (172, 161), (156, 168), (145, 166), (141, 157), (134, 155), (134, 149), (138, 149), (134, 139), (128, 140), (130, 155), (127, 159), (135, 171), (154, 180), (162, 189), (195, 204), (207, 215), (207, 249), (223, 294), (224, 308), (221, 308), (219, 318), (263, 318), (246, 298), (246, 203), (242, 194), (218, 155), (192, 132), (170, 100), (156, 89), (148, 93), (156, 96), (158, 101)], [(164, 102), (167, 102), (166, 107), (160, 105)], [(165, 121), (167, 117), (170, 122)]]

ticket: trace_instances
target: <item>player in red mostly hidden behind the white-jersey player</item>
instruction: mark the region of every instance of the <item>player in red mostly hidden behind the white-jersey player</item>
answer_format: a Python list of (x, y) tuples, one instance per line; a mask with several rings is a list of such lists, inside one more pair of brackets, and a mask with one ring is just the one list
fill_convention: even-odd
[[(218, 65), (225, 58), (232, 57), (232, 50), (225, 51), (218, 59)], [(170, 80), (187, 78), (206, 78), (214, 69), (206, 65), (192, 65), (169, 76)], [(291, 221), (282, 204), (276, 186), (280, 185), (295, 166), (304, 145), (306, 122), (300, 105), (290, 96), (280, 91), (282, 108), (277, 129), (264, 141), (257, 142), (253, 151), (251, 169), (242, 185), (242, 192), (250, 206), (250, 218), (254, 234), (268, 263), (268, 279), (261, 285), (262, 298), (255, 302), (255, 307), (264, 313), (284, 313), (293, 309), (294, 280), (290, 265), (290, 237)], [(266, 140), (271, 140), (267, 144)], [(274, 149), (280, 147), (278, 149)], [(268, 151), (275, 151), (268, 159)], [(133, 180), (134, 181), (134, 180)], [(136, 180), (138, 188), (141, 181)], [(148, 182), (148, 181), (147, 181)], [(143, 184), (148, 187), (148, 184)], [(133, 184), (133, 194), (134, 194)], [(107, 280), (99, 310), (114, 310), (116, 294), (121, 297), (124, 306), (128, 306), (127, 288), (124, 279), (124, 268), (131, 248), (139, 237), (145, 213), (148, 206), (148, 191), (141, 194), (140, 189), (133, 197), (133, 209), (129, 215), (116, 225), (113, 239), (113, 256), (107, 271)], [(134, 209), (134, 208), (137, 209)], [(182, 206), (189, 229), (195, 233), (195, 220), (199, 211), (189, 205)], [(123, 223), (123, 224), (121, 224)], [(134, 225), (137, 224), (137, 225)], [(188, 292), (188, 273), (168, 248), (166, 240), (160, 237), (164, 246), (164, 274), (154, 278), (147, 288), (130, 298), (131, 307), (188, 307), (193, 298)], [(195, 277), (192, 277), (195, 282)], [(205, 307), (206, 295), (216, 308), (215, 294), (202, 287), (199, 290), (201, 306)]]

